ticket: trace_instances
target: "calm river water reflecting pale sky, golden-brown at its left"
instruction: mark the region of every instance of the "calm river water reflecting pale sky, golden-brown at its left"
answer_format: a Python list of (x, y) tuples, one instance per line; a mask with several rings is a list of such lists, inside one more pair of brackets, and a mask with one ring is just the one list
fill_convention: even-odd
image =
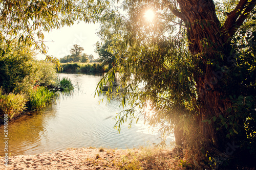
[[(25, 115), (8, 125), (8, 152), (11, 155), (31, 155), (49, 151), (81, 147), (133, 148), (161, 141), (160, 135), (148, 130), (142, 121), (131, 129), (124, 124), (121, 133), (114, 129), (113, 117), (120, 112), (119, 101), (99, 104), (101, 96), (94, 98), (102, 75), (59, 74), (68, 77), (80, 90), (71, 95), (60, 94), (55, 104)], [(118, 83), (118, 82), (116, 82)], [(0, 155), (4, 152), (4, 127), (0, 127)], [(170, 140), (173, 140), (171, 137)]]

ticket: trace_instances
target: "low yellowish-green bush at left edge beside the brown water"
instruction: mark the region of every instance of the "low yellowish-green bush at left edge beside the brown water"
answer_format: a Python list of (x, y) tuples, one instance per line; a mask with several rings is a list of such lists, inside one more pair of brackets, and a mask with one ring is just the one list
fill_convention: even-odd
[(0, 88), (0, 118), (8, 114), (8, 119), (18, 116), (26, 109), (26, 98), (24, 94), (2, 94)]

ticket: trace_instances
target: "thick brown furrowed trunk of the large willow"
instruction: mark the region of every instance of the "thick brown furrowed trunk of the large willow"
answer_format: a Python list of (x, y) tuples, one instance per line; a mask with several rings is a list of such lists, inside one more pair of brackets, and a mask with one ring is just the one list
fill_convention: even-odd
[(216, 53), (221, 52), (223, 56), (228, 54), (220, 34), (220, 21), (215, 13), (214, 2), (211, 0), (177, 0), (177, 2), (187, 26), (189, 51), (200, 57), (200, 74), (195, 76), (200, 105), (197, 117), (199, 128), (201, 134), (208, 139), (206, 143), (208, 147), (221, 149), (224, 147), (223, 142), (226, 143), (226, 135), (221, 131), (217, 134), (213, 123), (202, 123), (202, 120), (226, 114), (226, 109), (231, 107), (231, 102), (225, 99), (226, 94), (216, 77), (216, 68), (207, 64), (211, 59), (227, 64), (224, 62), (225, 57), (222, 60), (219, 53)]

